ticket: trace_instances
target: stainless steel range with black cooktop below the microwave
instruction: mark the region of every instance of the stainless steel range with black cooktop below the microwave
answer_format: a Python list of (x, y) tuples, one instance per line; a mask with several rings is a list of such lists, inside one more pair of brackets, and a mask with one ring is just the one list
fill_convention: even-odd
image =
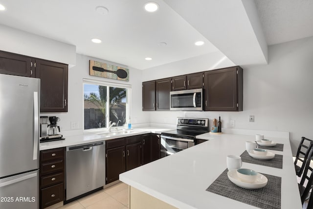
[(177, 118), (177, 129), (161, 133), (161, 158), (197, 144), (197, 135), (209, 132), (208, 118)]

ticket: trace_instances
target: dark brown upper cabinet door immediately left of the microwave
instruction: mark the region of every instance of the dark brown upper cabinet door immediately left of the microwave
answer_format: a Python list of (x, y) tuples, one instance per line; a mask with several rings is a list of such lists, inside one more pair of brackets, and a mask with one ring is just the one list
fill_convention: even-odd
[(165, 78), (156, 80), (156, 110), (170, 110), (170, 92), (172, 89), (172, 79)]

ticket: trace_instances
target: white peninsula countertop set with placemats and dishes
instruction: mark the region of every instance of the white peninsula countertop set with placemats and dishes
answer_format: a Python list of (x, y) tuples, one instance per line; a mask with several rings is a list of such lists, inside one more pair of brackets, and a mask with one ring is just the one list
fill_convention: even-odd
[[(197, 138), (209, 140), (122, 173), (120, 181), (179, 209), (255, 208), (205, 190), (226, 169), (226, 156), (240, 156), (245, 151), (245, 142), (255, 141), (255, 136), (207, 133)], [(301, 209), (290, 141), (267, 139), (284, 144), (283, 152), (271, 151), (283, 155), (283, 169), (251, 163), (243, 163), (242, 167), (282, 177), (281, 208)]]

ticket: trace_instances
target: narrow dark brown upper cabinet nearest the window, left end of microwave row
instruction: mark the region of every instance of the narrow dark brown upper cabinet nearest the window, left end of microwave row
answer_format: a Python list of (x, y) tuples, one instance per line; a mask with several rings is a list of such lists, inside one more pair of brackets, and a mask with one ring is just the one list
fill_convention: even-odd
[(156, 110), (156, 81), (142, 82), (142, 111)]

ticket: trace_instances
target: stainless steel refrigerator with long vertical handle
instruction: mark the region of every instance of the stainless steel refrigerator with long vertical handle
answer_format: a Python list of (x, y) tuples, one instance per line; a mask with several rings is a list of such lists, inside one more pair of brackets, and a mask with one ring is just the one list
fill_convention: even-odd
[(0, 209), (39, 208), (40, 79), (0, 74)]

